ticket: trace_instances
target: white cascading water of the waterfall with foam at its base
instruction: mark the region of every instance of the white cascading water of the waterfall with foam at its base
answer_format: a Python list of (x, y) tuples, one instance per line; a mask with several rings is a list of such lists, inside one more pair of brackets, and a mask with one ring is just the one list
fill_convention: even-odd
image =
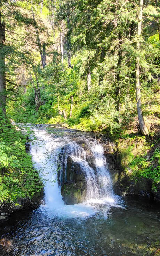
[[(86, 152), (76, 142), (71, 141), (69, 137), (54, 138), (44, 130), (33, 130), (37, 141), (32, 143), (30, 153), (34, 161), (34, 167), (40, 171), (44, 183), (45, 205), (41, 205), (42, 210), (47, 211), (48, 215), (71, 218), (88, 217), (95, 214), (98, 211), (96, 204), (116, 206), (116, 199), (101, 145), (88, 141), (95, 158), (96, 176), (95, 171), (86, 161)], [(80, 164), (87, 181), (86, 200), (89, 200), (77, 205), (64, 205), (61, 188), (58, 184), (58, 172), (60, 173), (59, 183), (62, 185), (66, 180), (68, 156), (72, 156), (73, 161)], [(64, 167), (65, 175), (63, 175), (62, 167)]]

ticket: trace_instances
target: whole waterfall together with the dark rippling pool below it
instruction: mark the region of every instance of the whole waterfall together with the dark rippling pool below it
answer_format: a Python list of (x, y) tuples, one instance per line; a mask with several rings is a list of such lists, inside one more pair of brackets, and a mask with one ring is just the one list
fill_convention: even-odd
[[(159, 210), (114, 194), (98, 141), (71, 130), (58, 136), (56, 129), (48, 134), (44, 127), (31, 128), (36, 140), (30, 153), (44, 183), (45, 203), (3, 222), (0, 255), (152, 255), (160, 238)], [(87, 142), (87, 149), (79, 140)], [(95, 168), (87, 162), (87, 150)], [(65, 205), (61, 195), (68, 156), (84, 171), (87, 183), (86, 201), (76, 205)]]

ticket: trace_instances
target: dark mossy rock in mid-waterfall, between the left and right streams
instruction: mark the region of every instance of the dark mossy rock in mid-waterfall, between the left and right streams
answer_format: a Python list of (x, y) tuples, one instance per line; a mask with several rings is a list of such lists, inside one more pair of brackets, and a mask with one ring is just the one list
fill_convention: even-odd
[(67, 181), (61, 187), (65, 204), (78, 204), (85, 201), (87, 184), (80, 164), (67, 158)]

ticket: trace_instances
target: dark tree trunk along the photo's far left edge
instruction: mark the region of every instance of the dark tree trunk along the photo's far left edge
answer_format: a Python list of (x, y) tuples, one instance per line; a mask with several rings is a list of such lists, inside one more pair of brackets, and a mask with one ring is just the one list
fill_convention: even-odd
[(0, 8), (0, 108), (6, 114), (6, 88), (5, 88), (5, 23), (2, 21)]

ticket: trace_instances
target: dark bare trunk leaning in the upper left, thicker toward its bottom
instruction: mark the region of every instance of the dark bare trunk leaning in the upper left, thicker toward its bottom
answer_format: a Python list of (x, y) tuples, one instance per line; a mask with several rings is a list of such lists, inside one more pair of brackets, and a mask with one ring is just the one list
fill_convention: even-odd
[(33, 23), (34, 23), (36, 37), (37, 37), (37, 45), (39, 47), (39, 52), (40, 52), (40, 56), (41, 56), (42, 66), (44, 68), (46, 66), (46, 49), (45, 49), (46, 48), (46, 44), (43, 43), (43, 45), (41, 45), (41, 41), (40, 41), (40, 38), (39, 38), (38, 25), (37, 25), (37, 22), (35, 20), (35, 15), (34, 15), (34, 11), (33, 11), (32, 6), (31, 6), (31, 9), (32, 9)]

